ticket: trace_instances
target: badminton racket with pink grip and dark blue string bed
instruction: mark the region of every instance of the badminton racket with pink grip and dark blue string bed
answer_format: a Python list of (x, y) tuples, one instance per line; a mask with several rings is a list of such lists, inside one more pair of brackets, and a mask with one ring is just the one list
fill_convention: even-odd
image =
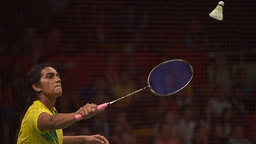
[[(112, 102), (107, 102), (97, 106), (98, 110), (103, 110), (104, 108), (110, 106), (114, 102), (126, 98), (136, 92), (149, 88), (150, 91), (157, 96), (171, 96), (180, 92), (185, 88), (188, 83), (192, 80), (194, 71), (190, 63), (186, 60), (168, 60), (156, 66), (148, 76), (148, 86), (132, 92), (122, 98), (113, 100)], [(92, 111), (94, 111), (92, 109)], [(82, 119), (81, 114), (76, 114), (76, 120)]]

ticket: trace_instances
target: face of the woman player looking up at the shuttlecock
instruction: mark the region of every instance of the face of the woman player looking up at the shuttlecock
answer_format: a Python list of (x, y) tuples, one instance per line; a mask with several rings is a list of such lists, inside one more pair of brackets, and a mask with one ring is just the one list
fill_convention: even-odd
[(52, 67), (46, 67), (41, 72), (40, 89), (44, 96), (49, 99), (56, 99), (62, 95), (60, 75)]

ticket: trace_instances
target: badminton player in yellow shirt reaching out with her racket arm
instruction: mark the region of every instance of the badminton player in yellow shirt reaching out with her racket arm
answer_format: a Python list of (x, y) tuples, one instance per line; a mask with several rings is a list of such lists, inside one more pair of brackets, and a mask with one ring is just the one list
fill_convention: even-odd
[(62, 129), (76, 122), (76, 114), (87, 119), (102, 110), (97, 112), (96, 104), (86, 104), (74, 113), (58, 114), (54, 104), (56, 98), (62, 95), (61, 80), (58, 72), (50, 65), (34, 66), (26, 76), (26, 84), (30, 95), (20, 116), (20, 126), (16, 133), (17, 144), (109, 144), (99, 134), (63, 136)]

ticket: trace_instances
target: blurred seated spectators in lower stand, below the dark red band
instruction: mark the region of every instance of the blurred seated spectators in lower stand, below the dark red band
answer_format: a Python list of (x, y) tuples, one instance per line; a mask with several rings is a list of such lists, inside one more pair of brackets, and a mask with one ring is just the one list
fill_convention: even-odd
[[(64, 89), (55, 107), (60, 113), (75, 112), (86, 103), (110, 102), (144, 87), (147, 76), (139, 68), (132, 68), (134, 64), (126, 67), (95, 75), (91, 85), (79, 90)], [(254, 86), (248, 82), (246, 69), (238, 68), (232, 75), (232, 84), (228, 84), (231, 87), (218, 82), (211, 88), (192, 80), (184, 90), (169, 97), (144, 90), (88, 120), (76, 122), (63, 130), (64, 135), (100, 134), (112, 144), (253, 144)], [(18, 63), (12, 64), (10, 74), (0, 76), (0, 140), (2, 144), (12, 144), (28, 94)], [(66, 82), (62, 80), (63, 84)]]

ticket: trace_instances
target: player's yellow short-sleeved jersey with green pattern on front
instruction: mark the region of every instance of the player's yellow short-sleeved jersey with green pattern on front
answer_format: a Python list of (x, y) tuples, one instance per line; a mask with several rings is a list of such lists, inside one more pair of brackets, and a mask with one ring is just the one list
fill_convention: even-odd
[(37, 120), (40, 114), (44, 112), (50, 115), (58, 114), (55, 108), (53, 110), (51, 112), (39, 100), (34, 101), (22, 120), (17, 144), (62, 144), (62, 129), (41, 131), (37, 126)]

